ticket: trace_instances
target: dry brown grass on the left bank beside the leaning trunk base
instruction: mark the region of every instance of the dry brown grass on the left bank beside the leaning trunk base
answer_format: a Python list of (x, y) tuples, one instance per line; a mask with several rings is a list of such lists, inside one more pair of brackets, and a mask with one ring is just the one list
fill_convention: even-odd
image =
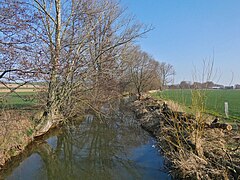
[(11, 156), (19, 154), (32, 140), (30, 112), (0, 110), (0, 168)]

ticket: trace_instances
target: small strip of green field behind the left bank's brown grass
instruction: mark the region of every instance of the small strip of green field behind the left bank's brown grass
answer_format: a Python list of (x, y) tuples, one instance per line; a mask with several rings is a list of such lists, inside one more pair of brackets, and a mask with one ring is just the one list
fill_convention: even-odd
[[(0, 93), (0, 98), (1, 96), (4, 96), (5, 93), (1, 92)], [(10, 109), (21, 109), (21, 108), (26, 108), (30, 107), (36, 104), (36, 99), (34, 96), (36, 95), (35, 92), (18, 92), (16, 93), (11, 93), (2, 101), (0, 102), (0, 108), (10, 108)]]

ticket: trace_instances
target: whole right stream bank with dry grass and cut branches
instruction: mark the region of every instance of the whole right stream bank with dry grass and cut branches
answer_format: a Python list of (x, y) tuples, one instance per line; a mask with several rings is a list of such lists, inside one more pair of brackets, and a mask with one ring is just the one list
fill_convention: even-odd
[(175, 112), (145, 96), (133, 103), (141, 126), (156, 137), (175, 179), (239, 179), (239, 132), (201, 126), (196, 117)]

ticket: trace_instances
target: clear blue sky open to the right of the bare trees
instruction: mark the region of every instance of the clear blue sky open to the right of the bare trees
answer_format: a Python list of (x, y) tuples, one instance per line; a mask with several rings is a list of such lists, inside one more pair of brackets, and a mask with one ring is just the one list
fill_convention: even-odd
[[(213, 81), (240, 84), (240, 0), (121, 0), (127, 12), (155, 29), (138, 44), (172, 64), (175, 83), (193, 78), (214, 56)], [(215, 73), (214, 73), (215, 74)], [(233, 81), (232, 81), (233, 79)]]

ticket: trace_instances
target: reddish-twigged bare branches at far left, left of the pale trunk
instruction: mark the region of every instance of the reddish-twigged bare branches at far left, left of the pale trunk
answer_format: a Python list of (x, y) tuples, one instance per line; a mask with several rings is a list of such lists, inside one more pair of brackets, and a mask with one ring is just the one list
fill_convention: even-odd
[[(38, 20), (17, 0), (0, 3), (0, 84), (8, 89), (1, 98), (13, 92), (19, 96), (16, 89), (39, 79), (40, 67), (31, 65), (39, 59), (34, 28)], [(11, 87), (9, 83), (17, 85)]]

